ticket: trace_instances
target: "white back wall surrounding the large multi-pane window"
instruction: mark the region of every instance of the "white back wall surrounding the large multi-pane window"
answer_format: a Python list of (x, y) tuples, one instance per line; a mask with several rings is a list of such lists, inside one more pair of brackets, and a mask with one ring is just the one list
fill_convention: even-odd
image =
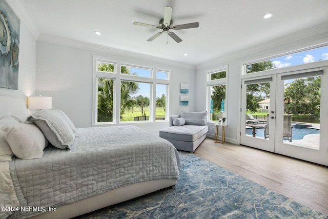
[[(53, 108), (66, 112), (77, 128), (92, 125), (93, 55), (109, 57), (116, 62), (170, 70), (170, 115), (179, 114), (181, 110), (194, 111), (196, 108), (196, 71), (193, 66), (106, 48), (98, 49), (76, 42), (54, 44), (37, 41), (36, 45), (36, 94), (52, 96)], [(76, 45), (83, 49), (76, 48)], [(180, 83), (189, 84), (189, 106), (179, 105)], [(157, 135), (161, 128), (168, 126), (168, 122), (142, 123), (138, 126)]]

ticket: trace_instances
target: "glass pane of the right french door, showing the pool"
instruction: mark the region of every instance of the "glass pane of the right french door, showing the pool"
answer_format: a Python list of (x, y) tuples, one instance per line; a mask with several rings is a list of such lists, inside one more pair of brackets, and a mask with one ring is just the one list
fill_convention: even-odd
[(284, 80), (283, 143), (319, 149), (320, 76)]

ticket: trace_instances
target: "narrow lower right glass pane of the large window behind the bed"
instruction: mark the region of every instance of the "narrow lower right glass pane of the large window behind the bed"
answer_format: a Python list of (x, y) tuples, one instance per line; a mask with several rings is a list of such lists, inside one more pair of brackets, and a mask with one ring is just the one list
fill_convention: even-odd
[(156, 111), (155, 111), (155, 121), (166, 120), (167, 112), (167, 91), (169, 85), (156, 84)]

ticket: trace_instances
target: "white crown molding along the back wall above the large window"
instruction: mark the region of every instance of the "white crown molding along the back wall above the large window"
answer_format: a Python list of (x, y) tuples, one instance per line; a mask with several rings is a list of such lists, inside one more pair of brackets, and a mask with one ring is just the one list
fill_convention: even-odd
[(146, 59), (147, 61), (156, 62), (156, 63), (162, 64), (162, 65), (169, 65), (172, 67), (174, 66), (174, 67), (179, 67), (179, 68), (196, 70), (196, 66), (194, 66), (194, 65), (189, 65), (186, 63), (179, 63), (176, 61), (172, 61), (170, 59), (163, 59), (161, 57), (146, 55), (146, 54), (142, 54), (142, 53), (131, 52), (131, 51), (127, 51), (127, 50), (120, 50), (120, 49), (116, 49), (116, 48), (101, 46), (101, 45), (92, 44), (92, 43), (86, 43), (86, 42), (82, 42), (82, 41), (76, 41), (75, 39), (54, 36), (54, 35), (50, 35), (50, 34), (41, 33), (39, 35), (39, 37), (37, 38), (37, 41), (57, 44), (57, 45), (61, 45), (61, 46), (74, 47), (74, 48), (78, 48), (78, 49), (96, 51), (96, 52), (101, 52), (101, 53), (107, 53), (107, 54), (111, 54), (111, 55), (126, 56), (129, 58), (137, 58), (137, 59), (142, 59), (142, 60)]

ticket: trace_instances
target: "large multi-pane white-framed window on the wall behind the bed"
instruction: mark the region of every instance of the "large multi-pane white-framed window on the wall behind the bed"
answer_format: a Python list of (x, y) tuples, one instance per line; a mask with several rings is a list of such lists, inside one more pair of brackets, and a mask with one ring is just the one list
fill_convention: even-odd
[[(93, 125), (166, 121), (169, 71), (94, 56)], [(117, 69), (120, 73), (116, 73)]]

